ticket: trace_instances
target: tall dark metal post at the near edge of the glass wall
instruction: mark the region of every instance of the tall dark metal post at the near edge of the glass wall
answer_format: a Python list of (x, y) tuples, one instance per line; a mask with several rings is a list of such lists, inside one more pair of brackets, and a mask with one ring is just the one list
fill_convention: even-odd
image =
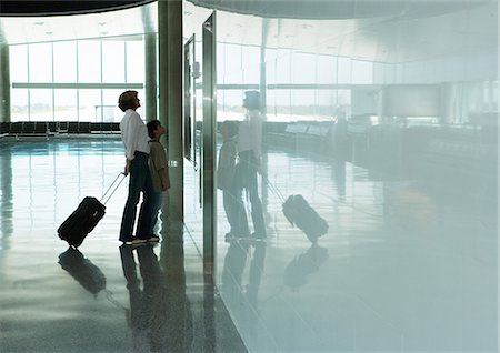
[(216, 251), (216, 12), (203, 23), (203, 262), (206, 272), (213, 271)]

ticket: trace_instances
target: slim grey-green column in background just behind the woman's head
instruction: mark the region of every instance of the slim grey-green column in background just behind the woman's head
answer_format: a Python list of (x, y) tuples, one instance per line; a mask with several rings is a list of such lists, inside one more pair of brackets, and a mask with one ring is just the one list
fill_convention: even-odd
[(144, 95), (146, 95), (146, 120), (157, 119), (157, 34), (144, 36)]

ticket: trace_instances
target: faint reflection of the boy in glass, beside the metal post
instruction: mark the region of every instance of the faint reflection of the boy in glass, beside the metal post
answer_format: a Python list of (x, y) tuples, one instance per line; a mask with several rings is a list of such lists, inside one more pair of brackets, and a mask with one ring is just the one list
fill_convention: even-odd
[(226, 238), (248, 235), (248, 222), (244, 206), (236, 199), (236, 160), (238, 125), (234, 121), (224, 121), (220, 127), (222, 147), (217, 165), (217, 188), (222, 190), (222, 202), (231, 230)]

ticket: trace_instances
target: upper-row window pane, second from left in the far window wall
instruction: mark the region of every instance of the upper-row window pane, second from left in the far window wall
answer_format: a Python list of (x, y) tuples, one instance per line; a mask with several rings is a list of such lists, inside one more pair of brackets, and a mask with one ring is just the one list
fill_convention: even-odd
[(30, 82), (52, 82), (52, 44), (30, 44), (28, 50)]

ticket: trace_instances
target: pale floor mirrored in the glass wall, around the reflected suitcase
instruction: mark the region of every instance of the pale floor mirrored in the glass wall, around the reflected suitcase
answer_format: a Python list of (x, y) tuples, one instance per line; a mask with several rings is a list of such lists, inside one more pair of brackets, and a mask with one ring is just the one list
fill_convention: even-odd
[[(497, 180), (272, 149), (266, 170), (266, 241), (224, 242), (219, 210), (217, 282), (249, 351), (497, 352)], [(328, 233), (311, 243), (279, 193), (302, 194)]]

